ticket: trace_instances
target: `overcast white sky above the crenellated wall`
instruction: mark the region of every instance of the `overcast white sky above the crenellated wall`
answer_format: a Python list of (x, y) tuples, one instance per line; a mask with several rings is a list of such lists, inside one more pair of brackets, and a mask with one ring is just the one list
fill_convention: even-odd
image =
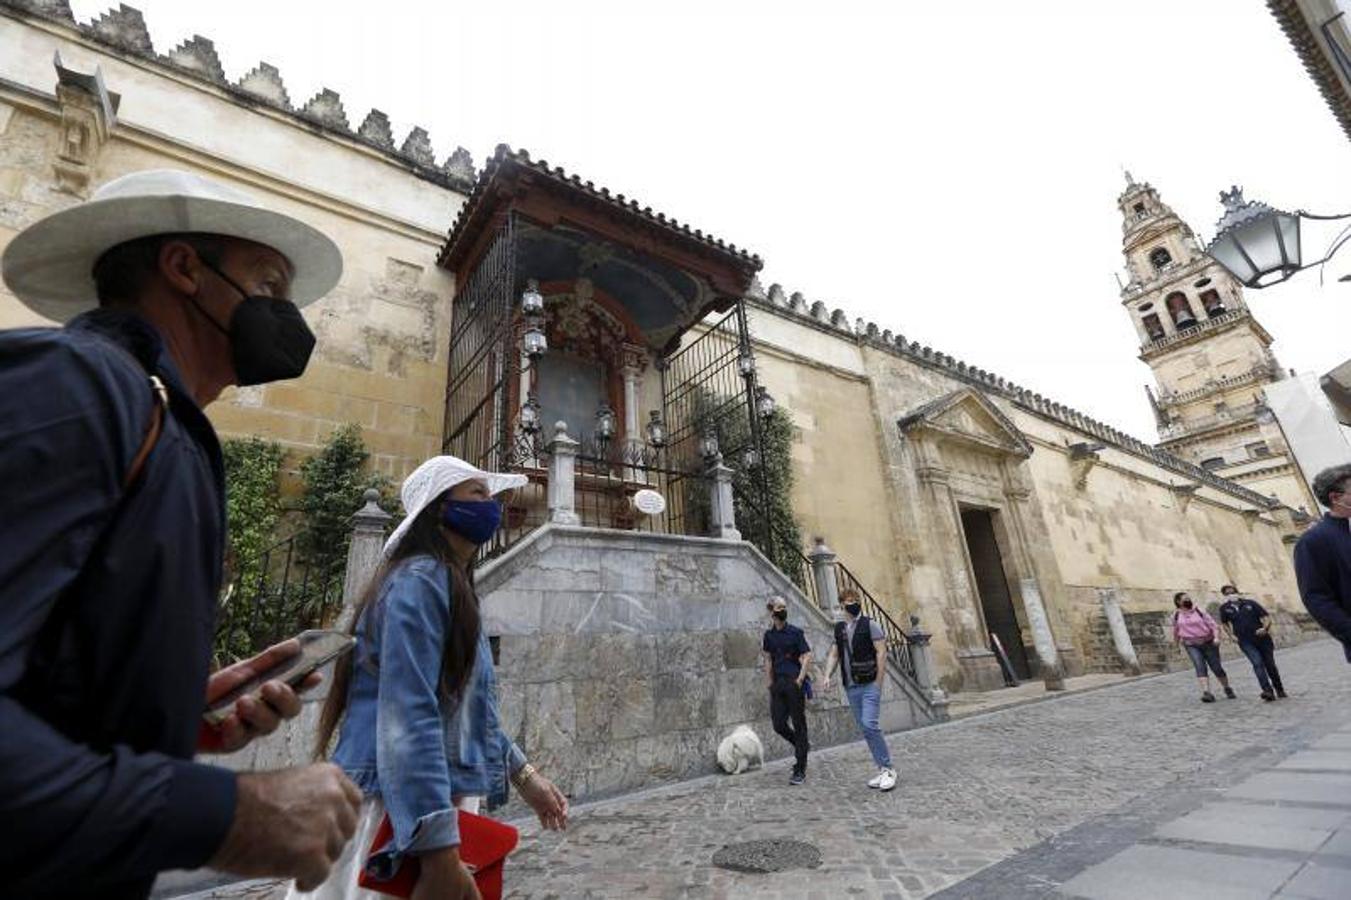
[[(1121, 166), (1202, 239), (1231, 182), (1351, 211), (1351, 142), (1260, 0), (132, 5), (161, 53), (212, 38), (231, 80), (265, 59), (297, 105), (332, 88), (438, 159), (526, 147), (759, 253), (766, 285), (1146, 439)], [(1283, 365), (1351, 355), (1346, 272), (1351, 249), (1321, 289), (1250, 292)]]

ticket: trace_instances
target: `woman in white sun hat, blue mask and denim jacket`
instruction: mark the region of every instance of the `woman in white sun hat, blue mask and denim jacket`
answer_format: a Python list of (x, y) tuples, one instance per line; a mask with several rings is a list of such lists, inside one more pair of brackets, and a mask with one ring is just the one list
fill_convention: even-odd
[[(474, 557), (501, 524), (496, 495), (524, 482), (455, 457), (434, 457), (404, 481), (408, 518), (358, 601), (357, 649), (334, 673), (319, 727), (317, 753), (336, 731), (332, 761), (366, 795), (361, 824), (324, 885), (293, 896), (374, 897), (357, 886), (363, 868), (388, 878), (416, 857), (415, 897), (477, 897), (457, 808), (504, 801), (508, 778), (540, 824), (566, 824), (567, 800), (501, 731), (474, 595)], [(367, 861), (385, 814), (393, 839)]]

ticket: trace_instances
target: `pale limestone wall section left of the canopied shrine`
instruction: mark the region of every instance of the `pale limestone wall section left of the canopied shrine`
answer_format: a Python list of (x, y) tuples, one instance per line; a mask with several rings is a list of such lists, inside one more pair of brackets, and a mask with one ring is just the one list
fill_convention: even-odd
[[(55, 174), (62, 109), (53, 54), (103, 73), (122, 95), (108, 141), (89, 147), (89, 188), (128, 172), (181, 168), (226, 181), (331, 235), (338, 288), (305, 309), (319, 346), (304, 377), (228, 391), (207, 412), (223, 435), (297, 450), (362, 426), (378, 469), (399, 478), (440, 443), (450, 274), (434, 265), (463, 195), (389, 153), (226, 85), (115, 51), (0, 5), (0, 249), (24, 226), (80, 201)], [(339, 109), (340, 111), (340, 109)], [(42, 324), (0, 289), (0, 327)]]

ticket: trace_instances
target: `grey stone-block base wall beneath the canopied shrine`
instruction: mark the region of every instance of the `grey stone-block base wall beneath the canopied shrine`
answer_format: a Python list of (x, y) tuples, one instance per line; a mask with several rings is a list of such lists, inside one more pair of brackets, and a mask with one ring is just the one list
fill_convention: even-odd
[[(759, 651), (769, 596), (789, 600), (817, 661), (828, 647), (830, 620), (740, 542), (547, 526), (478, 588), (505, 728), (577, 799), (712, 773), (738, 724), (767, 758), (789, 755)], [(884, 700), (886, 730), (928, 720), (897, 681)], [(842, 692), (817, 691), (808, 726), (816, 747), (858, 739)]]

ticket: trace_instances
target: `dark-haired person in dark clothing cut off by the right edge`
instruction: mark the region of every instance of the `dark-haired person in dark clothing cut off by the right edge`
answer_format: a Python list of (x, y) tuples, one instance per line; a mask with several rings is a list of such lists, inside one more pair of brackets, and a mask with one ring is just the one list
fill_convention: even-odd
[(1342, 642), (1351, 662), (1351, 465), (1320, 472), (1313, 496), (1328, 512), (1294, 545), (1294, 577), (1304, 607)]

